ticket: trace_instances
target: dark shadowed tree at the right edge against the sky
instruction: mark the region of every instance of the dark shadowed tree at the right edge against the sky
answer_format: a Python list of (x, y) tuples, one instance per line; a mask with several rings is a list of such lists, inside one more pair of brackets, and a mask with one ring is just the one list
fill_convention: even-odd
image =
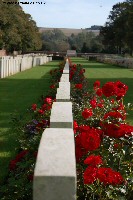
[(101, 28), (100, 35), (106, 51), (112, 53), (133, 51), (133, 0), (117, 3)]

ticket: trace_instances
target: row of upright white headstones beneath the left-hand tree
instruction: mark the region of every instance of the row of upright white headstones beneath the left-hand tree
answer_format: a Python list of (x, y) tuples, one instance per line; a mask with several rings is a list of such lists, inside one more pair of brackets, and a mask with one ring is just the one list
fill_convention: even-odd
[(52, 60), (47, 55), (3, 56), (0, 58), (0, 78), (5, 78)]

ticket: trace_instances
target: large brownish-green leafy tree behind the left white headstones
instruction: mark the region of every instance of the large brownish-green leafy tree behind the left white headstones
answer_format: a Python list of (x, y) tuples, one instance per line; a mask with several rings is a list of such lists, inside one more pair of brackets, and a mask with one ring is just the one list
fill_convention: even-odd
[(31, 15), (26, 14), (19, 4), (3, 2), (9, 2), (9, 0), (0, 2), (0, 48), (9, 52), (39, 50), (42, 41)]

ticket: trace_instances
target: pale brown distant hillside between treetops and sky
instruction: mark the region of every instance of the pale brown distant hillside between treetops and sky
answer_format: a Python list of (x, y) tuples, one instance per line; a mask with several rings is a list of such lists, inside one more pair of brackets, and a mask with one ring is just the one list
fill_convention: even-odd
[(74, 35), (78, 35), (78, 33), (82, 33), (82, 32), (93, 32), (95, 33), (95, 35), (99, 35), (99, 32), (100, 32), (100, 30), (92, 30), (92, 28), (71, 29), (71, 28), (45, 28), (45, 27), (39, 27), (39, 32), (42, 33), (42, 32), (53, 30), (53, 29), (60, 29), (66, 36), (71, 36), (72, 33)]

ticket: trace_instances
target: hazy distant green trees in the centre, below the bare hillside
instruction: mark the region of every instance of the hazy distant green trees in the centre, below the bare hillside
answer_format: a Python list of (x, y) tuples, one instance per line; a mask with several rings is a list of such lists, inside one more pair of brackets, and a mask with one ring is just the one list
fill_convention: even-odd
[(59, 30), (47, 30), (42, 33), (43, 47), (47, 51), (67, 51), (68, 49), (77, 52), (101, 52), (102, 43), (99, 36), (92, 32), (83, 32), (78, 35), (71, 34), (70, 37)]

